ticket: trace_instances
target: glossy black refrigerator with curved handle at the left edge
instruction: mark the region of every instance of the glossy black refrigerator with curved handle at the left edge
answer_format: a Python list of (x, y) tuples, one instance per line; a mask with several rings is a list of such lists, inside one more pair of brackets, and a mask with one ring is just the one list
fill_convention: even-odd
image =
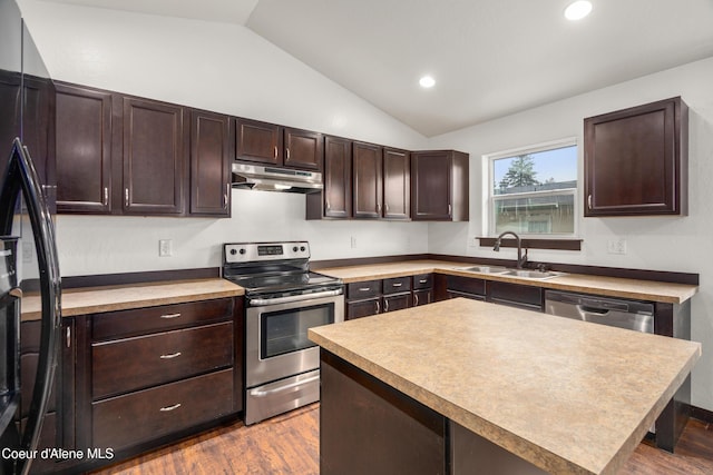
[[(51, 215), (53, 96), (20, 9), (14, 0), (0, 0), (0, 475), (27, 474), (36, 462), (14, 455), (37, 447), (58, 364), (61, 283)], [(29, 293), (41, 296), (33, 380), (20, 377), (20, 315), (22, 296)], [(30, 392), (29, 404), (23, 403), (21, 395)]]

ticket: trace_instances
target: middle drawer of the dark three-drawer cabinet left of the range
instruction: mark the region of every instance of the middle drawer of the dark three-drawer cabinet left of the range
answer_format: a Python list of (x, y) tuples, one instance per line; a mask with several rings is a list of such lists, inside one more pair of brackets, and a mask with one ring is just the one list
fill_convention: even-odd
[(91, 345), (92, 398), (233, 365), (233, 323)]

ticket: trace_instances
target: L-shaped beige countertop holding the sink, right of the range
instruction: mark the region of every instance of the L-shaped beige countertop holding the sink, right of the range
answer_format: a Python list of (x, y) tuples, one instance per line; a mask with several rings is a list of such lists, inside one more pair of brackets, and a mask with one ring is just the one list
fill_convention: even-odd
[(462, 270), (463, 267), (472, 266), (472, 263), (453, 263), (447, 260), (408, 260), (401, 263), (372, 264), (367, 266), (334, 267), (319, 269), (319, 271), (330, 276), (340, 277), (346, 284), (416, 274), (439, 273), (466, 277), (479, 277), (489, 280), (509, 281), (558, 290), (597, 294), (606, 297), (634, 298), (638, 300), (661, 301), (667, 304), (682, 304), (693, 297), (697, 291), (697, 286), (694, 285), (589, 276), (584, 274), (566, 274), (559, 277), (540, 280)]

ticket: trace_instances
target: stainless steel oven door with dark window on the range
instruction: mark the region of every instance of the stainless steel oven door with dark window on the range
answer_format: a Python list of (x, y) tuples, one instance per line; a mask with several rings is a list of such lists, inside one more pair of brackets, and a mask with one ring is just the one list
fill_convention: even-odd
[(320, 367), (320, 349), (307, 329), (344, 320), (344, 296), (333, 294), (251, 300), (245, 311), (248, 388)]

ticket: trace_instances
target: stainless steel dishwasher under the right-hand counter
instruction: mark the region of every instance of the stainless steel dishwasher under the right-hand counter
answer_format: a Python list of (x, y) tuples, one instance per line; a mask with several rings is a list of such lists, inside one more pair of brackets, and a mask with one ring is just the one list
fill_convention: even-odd
[(645, 301), (545, 290), (545, 313), (612, 327), (654, 333), (654, 305)]

